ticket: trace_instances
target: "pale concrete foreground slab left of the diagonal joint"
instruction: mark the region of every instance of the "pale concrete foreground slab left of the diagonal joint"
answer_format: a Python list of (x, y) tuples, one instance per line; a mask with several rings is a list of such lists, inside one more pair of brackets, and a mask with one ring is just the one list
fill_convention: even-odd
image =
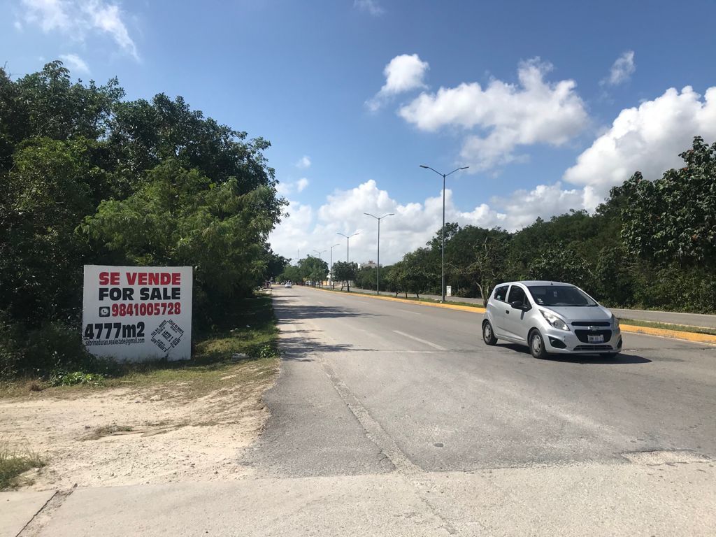
[(399, 475), (76, 490), (43, 537), (448, 536)]

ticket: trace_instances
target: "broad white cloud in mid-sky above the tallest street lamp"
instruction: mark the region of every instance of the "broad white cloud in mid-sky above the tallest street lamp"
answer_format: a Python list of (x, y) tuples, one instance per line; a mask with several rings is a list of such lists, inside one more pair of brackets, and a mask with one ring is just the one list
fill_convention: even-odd
[[(552, 66), (538, 58), (518, 67), (519, 84), (493, 79), (425, 93), (400, 108), (399, 114), (420, 130), (458, 127), (470, 134), (460, 157), (471, 171), (524, 160), (516, 155), (521, 145), (563, 145), (589, 123), (574, 80), (546, 82)], [(475, 130), (478, 133), (475, 133)]]

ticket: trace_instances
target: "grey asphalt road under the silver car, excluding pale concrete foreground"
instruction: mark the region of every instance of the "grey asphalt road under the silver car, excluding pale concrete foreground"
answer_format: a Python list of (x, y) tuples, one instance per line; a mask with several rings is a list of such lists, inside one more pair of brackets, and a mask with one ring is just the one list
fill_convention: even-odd
[(285, 362), (261, 475), (465, 471), (716, 458), (716, 347), (624, 335), (624, 352), (536, 360), (488, 347), (482, 315), (275, 289)]

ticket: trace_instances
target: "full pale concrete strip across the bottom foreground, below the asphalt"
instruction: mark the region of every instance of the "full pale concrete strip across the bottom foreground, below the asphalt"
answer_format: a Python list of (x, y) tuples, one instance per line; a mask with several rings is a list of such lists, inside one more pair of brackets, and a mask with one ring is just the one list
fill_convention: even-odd
[(711, 536), (713, 461), (664, 460), (85, 488), (39, 536)]

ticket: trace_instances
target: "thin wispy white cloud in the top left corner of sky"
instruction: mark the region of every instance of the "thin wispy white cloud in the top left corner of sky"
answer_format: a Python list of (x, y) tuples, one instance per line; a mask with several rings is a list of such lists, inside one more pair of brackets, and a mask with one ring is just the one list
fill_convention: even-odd
[(21, 3), (25, 21), (37, 24), (43, 32), (57, 30), (80, 42), (89, 32), (109, 34), (122, 50), (139, 59), (117, 4), (102, 0), (21, 0)]

